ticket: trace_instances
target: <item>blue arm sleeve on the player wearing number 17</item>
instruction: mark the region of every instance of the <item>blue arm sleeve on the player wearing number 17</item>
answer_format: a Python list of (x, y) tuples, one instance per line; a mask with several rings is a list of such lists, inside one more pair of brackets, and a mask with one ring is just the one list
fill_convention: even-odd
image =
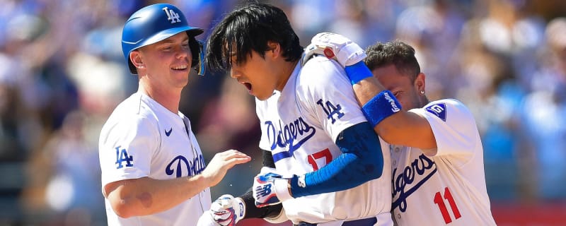
[(294, 198), (351, 189), (381, 177), (381, 144), (368, 122), (345, 129), (335, 143), (342, 154), (328, 165), (305, 174), (306, 186), (299, 186), (296, 176), (291, 179), (291, 194)]

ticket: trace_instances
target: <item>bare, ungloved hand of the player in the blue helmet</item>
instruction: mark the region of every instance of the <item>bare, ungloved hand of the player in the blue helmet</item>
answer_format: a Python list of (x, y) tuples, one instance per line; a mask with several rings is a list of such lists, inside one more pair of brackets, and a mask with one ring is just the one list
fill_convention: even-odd
[(236, 164), (246, 163), (250, 160), (250, 156), (237, 150), (226, 150), (216, 153), (201, 174), (207, 179), (208, 186), (214, 186), (226, 176), (228, 169), (231, 169)]

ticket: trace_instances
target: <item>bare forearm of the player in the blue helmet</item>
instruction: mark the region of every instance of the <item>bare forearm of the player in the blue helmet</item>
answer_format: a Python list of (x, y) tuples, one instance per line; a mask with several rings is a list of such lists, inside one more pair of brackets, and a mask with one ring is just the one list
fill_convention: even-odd
[(108, 199), (122, 218), (163, 212), (196, 196), (208, 184), (201, 175), (168, 180), (142, 177), (115, 183)]

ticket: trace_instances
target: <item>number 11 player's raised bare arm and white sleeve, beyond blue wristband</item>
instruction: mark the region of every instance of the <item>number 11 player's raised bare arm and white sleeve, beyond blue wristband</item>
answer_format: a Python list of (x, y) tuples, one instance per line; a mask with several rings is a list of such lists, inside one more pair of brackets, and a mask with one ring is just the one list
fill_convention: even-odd
[[(392, 114), (374, 127), (383, 141), (419, 148), (425, 155), (439, 153), (439, 148), (473, 150), (478, 129), (473, 115), (458, 100), (430, 102), (422, 108)], [(450, 145), (439, 143), (450, 142)]]

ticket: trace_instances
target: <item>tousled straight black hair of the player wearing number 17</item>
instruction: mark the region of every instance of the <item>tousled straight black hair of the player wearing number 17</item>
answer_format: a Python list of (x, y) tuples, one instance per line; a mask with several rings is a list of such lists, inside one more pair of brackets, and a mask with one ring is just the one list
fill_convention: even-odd
[[(232, 63), (246, 63), (252, 51), (265, 57), (268, 41), (279, 43), (286, 61), (301, 58), (303, 47), (299, 37), (280, 8), (261, 3), (238, 8), (212, 30), (207, 42), (207, 67), (212, 71), (228, 71)], [(235, 62), (231, 57), (236, 57)]]

